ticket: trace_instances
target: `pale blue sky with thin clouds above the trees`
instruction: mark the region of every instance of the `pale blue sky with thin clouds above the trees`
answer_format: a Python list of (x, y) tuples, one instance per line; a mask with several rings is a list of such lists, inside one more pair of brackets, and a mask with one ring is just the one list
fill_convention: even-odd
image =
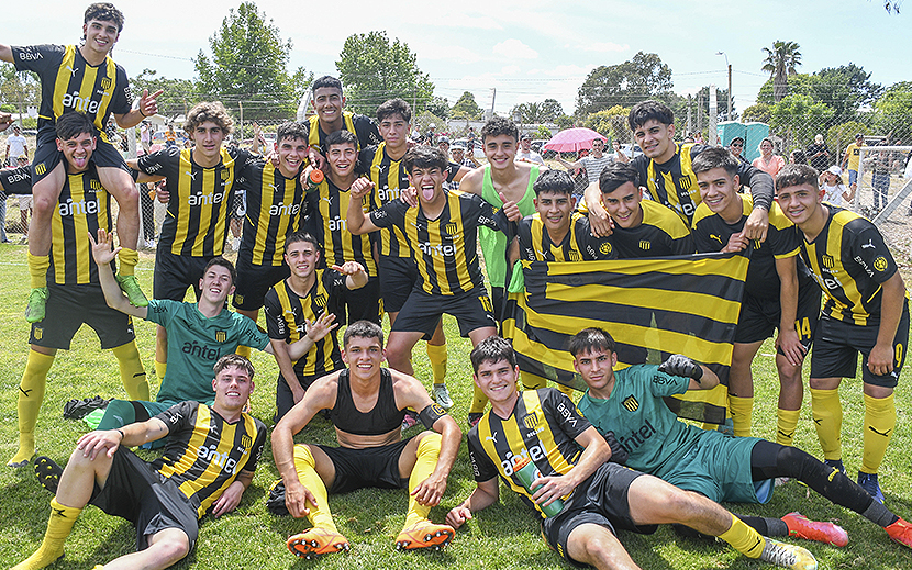
[[(190, 58), (240, 2), (194, 0), (115, 1), (126, 24), (114, 57), (127, 74), (153, 68), (166, 77), (191, 78)], [(481, 107), (508, 113), (515, 103), (554, 98), (565, 112), (600, 65), (637, 52), (657, 53), (672, 70), (675, 91), (686, 94), (727, 78), (733, 66), (735, 105), (750, 104), (767, 79), (761, 47), (774, 41), (801, 45), (802, 72), (849, 62), (883, 86), (912, 80), (909, 15), (887, 14), (879, 0), (702, 0), (699, 2), (520, 1), (451, 2), (429, 10), (423, 1), (289, 2), (260, 0), (260, 11), (294, 45), (291, 67), (316, 75), (336, 72), (335, 59), (354, 33), (385, 30), (418, 54), (436, 94), (451, 104), (471, 91)], [(3, 13), (0, 43), (75, 43), (88, 2), (19, 2)], [(908, 7), (912, 10), (912, 5)], [(338, 10), (334, 13), (333, 10)], [(154, 12), (154, 13), (149, 13)], [(35, 16), (40, 14), (40, 20)]]

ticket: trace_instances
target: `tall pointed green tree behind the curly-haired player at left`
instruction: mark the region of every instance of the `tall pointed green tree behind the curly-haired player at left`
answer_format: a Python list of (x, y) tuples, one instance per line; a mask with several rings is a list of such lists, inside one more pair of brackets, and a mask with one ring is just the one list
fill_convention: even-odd
[(289, 75), (291, 41), (281, 38), (279, 29), (254, 2), (242, 2), (236, 11), (229, 10), (221, 27), (209, 38), (209, 47), (211, 59), (202, 51), (194, 59), (201, 98), (220, 99), (230, 108), (240, 102), (245, 119), (287, 118), (294, 113), (301, 91), (296, 81), (310, 76), (303, 68)]

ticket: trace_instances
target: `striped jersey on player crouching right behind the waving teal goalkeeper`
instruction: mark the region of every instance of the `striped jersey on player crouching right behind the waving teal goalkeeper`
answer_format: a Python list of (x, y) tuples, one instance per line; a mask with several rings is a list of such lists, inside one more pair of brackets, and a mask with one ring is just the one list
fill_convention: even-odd
[[(344, 314), (340, 312), (340, 297), (346, 290), (346, 277), (332, 269), (316, 269), (315, 277), (313, 287), (305, 297), (299, 297), (289, 287), (287, 279), (269, 289), (263, 300), (269, 338), (294, 343), (307, 335), (308, 321), (314, 322), (324, 312)], [(335, 332), (318, 340), (293, 365), (299, 379), (345, 368)]]

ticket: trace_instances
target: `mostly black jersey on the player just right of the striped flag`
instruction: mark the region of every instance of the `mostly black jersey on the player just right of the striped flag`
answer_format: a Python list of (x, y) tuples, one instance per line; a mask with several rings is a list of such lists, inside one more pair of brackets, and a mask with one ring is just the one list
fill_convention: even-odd
[[(705, 204), (697, 208), (693, 215), (693, 243), (701, 254), (721, 252), (729, 245), (729, 238), (744, 230), (744, 224), (754, 209), (749, 195), (741, 197), (742, 215), (734, 224), (726, 224), (719, 214), (712, 212)], [(794, 257), (801, 247), (801, 237), (779, 204), (774, 202), (769, 211), (769, 230), (766, 241), (754, 241), (750, 253), (750, 264), (747, 266), (747, 277), (744, 280), (744, 291), (759, 299), (779, 300), (779, 273), (776, 271), (776, 260)], [(809, 284), (804, 271), (798, 271), (798, 284)]]

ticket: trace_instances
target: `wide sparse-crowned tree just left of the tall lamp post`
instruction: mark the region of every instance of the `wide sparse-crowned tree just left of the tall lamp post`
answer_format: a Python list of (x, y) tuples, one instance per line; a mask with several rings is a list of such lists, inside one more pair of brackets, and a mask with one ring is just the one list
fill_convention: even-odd
[(666, 100), (674, 83), (671, 68), (656, 54), (637, 53), (629, 62), (593, 69), (577, 92), (578, 118), (646, 99)]

